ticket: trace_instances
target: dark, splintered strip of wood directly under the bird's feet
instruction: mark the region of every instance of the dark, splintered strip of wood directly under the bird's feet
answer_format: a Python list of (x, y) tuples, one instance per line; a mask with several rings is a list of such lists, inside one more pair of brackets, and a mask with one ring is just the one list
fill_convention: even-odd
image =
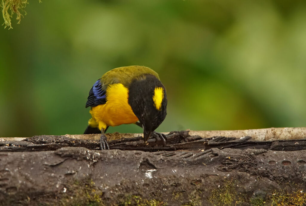
[[(134, 138), (121, 138), (109, 142), (110, 149), (141, 150), (141, 151), (175, 151), (175, 150), (208, 150), (211, 148), (234, 149), (265, 149), (276, 151), (306, 150), (306, 139), (289, 139), (273, 141), (256, 141), (250, 136), (242, 138), (215, 136), (202, 138), (190, 136), (188, 131), (170, 132), (167, 135), (166, 145), (161, 141), (149, 139), (144, 145), (141, 136)], [(99, 149), (98, 140), (73, 139), (66, 136), (34, 136), (21, 141), (2, 141), (0, 151), (47, 151), (57, 150), (65, 146), (85, 147)]]

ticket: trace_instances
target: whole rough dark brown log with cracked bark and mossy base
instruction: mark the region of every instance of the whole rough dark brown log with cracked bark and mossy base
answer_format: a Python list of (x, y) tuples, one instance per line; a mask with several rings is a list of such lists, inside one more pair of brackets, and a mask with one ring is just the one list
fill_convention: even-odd
[(0, 204), (305, 205), (306, 140), (237, 137), (170, 132), (165, 146), (134, 137), (103, 151), (67, 136), (6, 139)]

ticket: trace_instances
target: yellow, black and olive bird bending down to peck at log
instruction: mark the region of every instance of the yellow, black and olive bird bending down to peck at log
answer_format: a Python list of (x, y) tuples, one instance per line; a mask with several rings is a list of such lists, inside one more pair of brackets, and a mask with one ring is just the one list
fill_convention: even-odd
[(166, 143), (166, 135), (155, 131), (167, 115), (166, 89), (149, 67), (135, 65), (106, 72), (93, 84), (85, 107), (91, 107), (91, 118), (84, 134), (101, 133), (101, 150), (110, 149), (107, 128), (122, 124), (142, 127), (144, 143), (149, 137)]

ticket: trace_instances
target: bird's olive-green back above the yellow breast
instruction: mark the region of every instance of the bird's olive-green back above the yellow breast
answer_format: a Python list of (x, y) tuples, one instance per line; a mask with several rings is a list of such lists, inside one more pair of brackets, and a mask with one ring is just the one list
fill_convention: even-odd
[(106, 90), (108, 85), (121, 83), (125, 87), (129, 87), (134, 78), (143, 76), (143, 74), (152, 74), (159, 79), (158, 74), (149, 67), (128, 66), (118, 67), (106, 72), (102, 78), (102, 89)]

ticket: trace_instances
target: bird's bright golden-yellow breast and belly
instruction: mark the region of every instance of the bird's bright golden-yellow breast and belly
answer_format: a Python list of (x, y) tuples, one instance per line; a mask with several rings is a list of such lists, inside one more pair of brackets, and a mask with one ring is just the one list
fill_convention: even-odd
[(122, 84), (112, 84), (106, 89), (106, 103), (92, 107), (89, 125), (106, 129), (107, 126), (132, 124), (138, 121), (128, 103), (128, 89)]

